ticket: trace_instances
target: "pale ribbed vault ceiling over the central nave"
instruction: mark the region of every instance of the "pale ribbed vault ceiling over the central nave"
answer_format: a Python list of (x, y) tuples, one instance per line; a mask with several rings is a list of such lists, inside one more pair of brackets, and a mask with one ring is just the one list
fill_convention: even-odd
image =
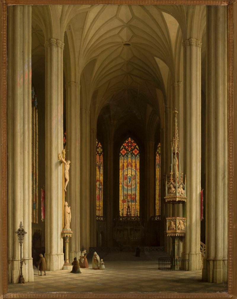
[(165, 94), (167, 82), (157, 61), (173, 76), (178, 22), (172, 16), (158, 6), (98, 5), (88, 11), (82, 31), (74, 30), (77, 18), (70, 30), (81, 40), (76, 48), (79, 72), (86, 72), (88, 62), (96, 59), (90, 69), (90, 91), (99, 89), (103, 98), (120, 97), (139, 86), (151, 101), (156, 88)]

